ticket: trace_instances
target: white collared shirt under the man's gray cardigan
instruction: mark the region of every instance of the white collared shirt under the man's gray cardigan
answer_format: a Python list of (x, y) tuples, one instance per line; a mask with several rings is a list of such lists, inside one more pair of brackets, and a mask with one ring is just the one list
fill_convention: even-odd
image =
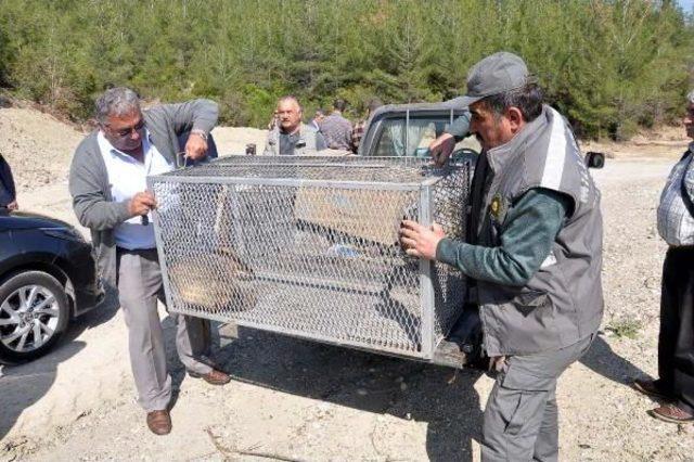
[[(132, 156), (115, 149), (106, 140), (103, 131), (99, 132), (97, 141), (106, 164), (111, 195), (115, 202), (129, 201), (137, 193), (145, 191), (149, 175), (165, 174), (174, 169), (174, 165), (151, 142), (150, 132), (146, 129), (145, 136), (142, 138), (144, 163), (140, 163)], [(152, 217), (149, 216), (149, 218), (147, 226), (142, 224), (140, 216), (118, 224), (114, 229), (116, 245), (129, 251), (156, 247)]]

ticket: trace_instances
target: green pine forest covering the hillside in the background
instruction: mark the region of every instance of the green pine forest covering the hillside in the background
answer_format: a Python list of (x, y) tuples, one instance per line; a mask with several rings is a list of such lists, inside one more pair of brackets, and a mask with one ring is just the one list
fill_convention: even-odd
[(646, 0), (1, 0), (0, 87), (91, 116), (104, 88), (206, 97), (262, 127), (279, 95), (441, 101), (499, 50), (520, 54), (583, 137), (628, 138), (681, 115), (694, 24)]

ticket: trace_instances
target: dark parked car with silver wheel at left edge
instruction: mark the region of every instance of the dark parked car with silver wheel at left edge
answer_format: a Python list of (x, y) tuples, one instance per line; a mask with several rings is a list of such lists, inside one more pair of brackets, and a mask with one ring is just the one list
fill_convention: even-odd
[(63, 221), (0, 210), (0, 362), (48, 352), (104, 297), (92, 248)]

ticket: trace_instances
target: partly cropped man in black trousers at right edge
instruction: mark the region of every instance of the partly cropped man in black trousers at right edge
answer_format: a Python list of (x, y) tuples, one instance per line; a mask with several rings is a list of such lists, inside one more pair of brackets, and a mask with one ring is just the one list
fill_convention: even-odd
[[(686, 136), (694, 140), (694, 90), (686, 95)], [(663, 264), (658, 378), (635, 380), (639, 392), (666, 400), (650, 411), (671, 423), (694, 422), (694, 141), (660, 194), (658, 232), (669, 245)]]

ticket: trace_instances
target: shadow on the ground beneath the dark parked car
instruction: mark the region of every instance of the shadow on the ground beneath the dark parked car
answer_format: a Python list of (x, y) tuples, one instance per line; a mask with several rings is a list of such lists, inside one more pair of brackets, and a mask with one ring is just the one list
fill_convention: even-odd
[(51, 389), (59, 365), (86, 347), (78, 341), (87, 329), (108, 321), (116, 313), (118, 304), (107, 298), (92, 309), (72, 320), (67, 331), (46, 356), (31, 362), (4, 365), (0, 373), (0, 439), (12, 429), (26, 408), (37, 402)]

